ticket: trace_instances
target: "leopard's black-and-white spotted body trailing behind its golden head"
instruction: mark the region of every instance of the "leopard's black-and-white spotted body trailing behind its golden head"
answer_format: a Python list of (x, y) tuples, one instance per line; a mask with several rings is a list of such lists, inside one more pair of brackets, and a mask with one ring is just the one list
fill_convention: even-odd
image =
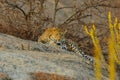
[(61, 46), (62, 49), (65, 49), (67, 51), (72, 51), (75, 53), (75, 55), (80, 56), (81, 57), (80, 59), (85, 63), (90, 64), (92, 66), (95, 65), (94, 57), (84, 53), (79, 48), (76, 42), (70, 39), (64, 39), (59, 45)]

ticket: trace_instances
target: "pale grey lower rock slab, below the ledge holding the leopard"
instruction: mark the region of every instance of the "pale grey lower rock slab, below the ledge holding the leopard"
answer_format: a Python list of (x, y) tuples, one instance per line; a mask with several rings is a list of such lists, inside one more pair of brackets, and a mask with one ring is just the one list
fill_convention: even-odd
[(83, 66), (77, 56), (70, 54), (4, 49), (0, 55), (0, 72), (13, 80), (26, 80), (31, 72), (52, 73), (78, 80), (94, 75), (92, 69)]

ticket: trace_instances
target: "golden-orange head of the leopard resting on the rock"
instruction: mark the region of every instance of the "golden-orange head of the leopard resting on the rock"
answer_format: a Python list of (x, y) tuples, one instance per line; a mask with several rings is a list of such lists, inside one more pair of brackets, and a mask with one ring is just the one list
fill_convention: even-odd
[(64, 29), (58, 27), (49, 27), (41, 36), (38, 37), (38, 42), (56, 46), (56, 43), (59, 43), (64, 39), (65, 33), (66, 30)]

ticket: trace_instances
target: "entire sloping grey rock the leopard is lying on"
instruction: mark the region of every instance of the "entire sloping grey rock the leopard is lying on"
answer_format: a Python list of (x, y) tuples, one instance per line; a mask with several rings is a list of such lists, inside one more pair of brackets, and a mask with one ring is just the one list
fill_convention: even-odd
[(72, 52), (0, 33), (0, 80), (49, 79), (95, 80), (95, 75)]

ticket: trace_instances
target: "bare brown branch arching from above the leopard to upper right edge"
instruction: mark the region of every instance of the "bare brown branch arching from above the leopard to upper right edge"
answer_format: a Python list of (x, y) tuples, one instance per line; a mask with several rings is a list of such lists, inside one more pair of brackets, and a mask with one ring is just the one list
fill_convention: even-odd
[[(82, 5), (84, 6), (84, 8), (77, 10), (75, 13), (73, 13), (69, 18), (67, 18), (61, 25), (63, 24), (68, 24), (71, 21), (73, 21), (73, 18), (79, 14), (79, 16), (81, 16), (85, 11), (87, 11), (90, 8), (95, 8), (96, 10), (98, 10), (98, 12), (101, 13), (101, 11), (99, 10), (99, 8), (97, 7), (109, 7), (109, 8), (120, 8), (120, 6), (112, 6), (110, 4), (105, 4), (105, 0), (100, 0), (97, 2), (91, 2), (91, 3), (86, 3), (84, 2), (84, 4)], [(80, 15), (81, 14), (81, 15)], [(77, 18), (78, 19), (78, 18)], [(81, 18), (79, 18), (81, 19)], [(76, 19), (74, 19), (76, 20)]]

